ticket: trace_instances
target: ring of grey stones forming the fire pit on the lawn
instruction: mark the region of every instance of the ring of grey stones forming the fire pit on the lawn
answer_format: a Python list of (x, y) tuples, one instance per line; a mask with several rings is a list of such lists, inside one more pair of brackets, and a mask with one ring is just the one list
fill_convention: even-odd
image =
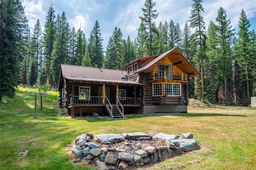
[(76, 138), (72, 152), (81, 162), (96, 162), (98, 168), (105, 170), (122, 170), (130, 166), (155, 164), (194, 150), (197, 144), (192, 138), (192, 133), (169, 135), (156, 131), (95, 137), (92, 133), (85, 133)]

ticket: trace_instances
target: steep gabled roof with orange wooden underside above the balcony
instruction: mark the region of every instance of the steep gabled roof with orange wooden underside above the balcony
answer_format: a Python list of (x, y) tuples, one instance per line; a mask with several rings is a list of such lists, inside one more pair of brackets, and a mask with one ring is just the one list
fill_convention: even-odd
[[(188, 74), (188, 77), (199, 76), (200, 72), (196, 70), (196, 68), (178, 51), (178, 49), (174, 48), (161, 55), (152, 56), (152, 60), (148, 61), (148, 63), (142, 65), (135, 74), (140, 72), (145, 72), (150, 70), (155, 64), (158, 64), (160, 61), (164, 60), (166, 57), (170, 56), (170, 60), (172, 63), (178, 63), (177, 67), (184, 73)], [(141, 58), (144, 59), (144, 58)], [(132, 63), (132, 62), (131, 62)], [(128, 64), (126, 64), (128, 66)]]

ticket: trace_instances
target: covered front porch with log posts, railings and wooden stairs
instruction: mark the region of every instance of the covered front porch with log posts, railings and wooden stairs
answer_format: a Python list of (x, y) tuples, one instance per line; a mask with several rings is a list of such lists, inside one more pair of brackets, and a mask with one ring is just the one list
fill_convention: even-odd
[(72, 82), (68, 96), (68, 113), (75, 115), (107, 115), (124, 117), (125, 113), (141, 113), (140, 86), (131, 84), (109, 84)]

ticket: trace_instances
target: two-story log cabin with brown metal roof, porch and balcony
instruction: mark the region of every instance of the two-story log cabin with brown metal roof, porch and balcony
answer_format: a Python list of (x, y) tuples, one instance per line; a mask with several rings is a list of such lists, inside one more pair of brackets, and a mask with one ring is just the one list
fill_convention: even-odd
[(136, 59), (124, 70), (61, 65), (60, 108), (68, 114), (187, 113), (188, 78), (200, 72), (176, 49)]

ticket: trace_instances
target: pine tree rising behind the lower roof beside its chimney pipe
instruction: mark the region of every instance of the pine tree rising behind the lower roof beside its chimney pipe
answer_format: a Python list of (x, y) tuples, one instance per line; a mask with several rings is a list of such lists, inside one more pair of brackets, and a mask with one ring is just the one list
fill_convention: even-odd
[(100, 68), (102, 68), (104, 60), (102, 42), (103, 39), (100, 33), (100, 24), (96, 21), (90, 33), (88, 53), (92, 60), (92, 65), (95, 66), (95, 63), (97, 63)]

